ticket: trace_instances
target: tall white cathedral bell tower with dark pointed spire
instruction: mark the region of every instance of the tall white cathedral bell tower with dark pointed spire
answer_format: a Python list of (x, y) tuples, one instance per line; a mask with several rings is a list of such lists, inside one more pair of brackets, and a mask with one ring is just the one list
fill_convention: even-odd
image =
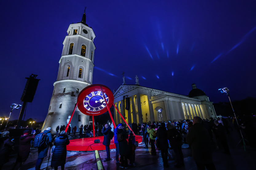
[[(53, 83), (53, 94), (42, 127), (42, 131), (51, 127), (51, 133), (56, 133), (57, 126), (66, 126), (79, 92), (92, 85), (93, 81), (95, 34), (93, 29), (86, 24), (85, 13), (81, 22), (69, 25), (67, 33), (59, 60), (57, 81)], [(89, 124), (89, 116), (81, 113), (77, 108), (70, 124), (78, 129), (81, 124)]]

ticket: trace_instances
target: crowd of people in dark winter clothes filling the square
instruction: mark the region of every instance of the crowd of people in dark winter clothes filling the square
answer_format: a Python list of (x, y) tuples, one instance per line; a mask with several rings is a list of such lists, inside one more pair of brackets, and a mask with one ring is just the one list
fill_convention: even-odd
[[(114, 128), (113, 124), (107, 123), (102, 125), (100, 133), (104, 135), (103, 145), (105, 146), (107, 157), (104, 161), (110, 161), (110, 141), (113, 139), (116, 146), (116, 164), (121, 168), (128, 168), (129, 166), (135, 166), (135, 150), (138, 146), (138, 142), (135, 140), (135, 135), (143, 136), (143, 142), (145, 149), (151, 146), (152, 156), (156, 155), (156, 148), (161, 152), (163, 159), (163, 166), (168, 165), (168, 149), (171, 149), (175, 153), (176, 168), (185, 166), (184, 157), (182, 152), (182, 145), (186, 143), (189, 145), (189, 149), (192, 151), (193, 159), (198, 169), (208, 170), (216, 169), (213, 163), (211, 153), (211, 142), (215, 136), (216, 140), (222, 145), (224, 151), (223, 154), (230, 154), (229, 146), (227, 143), (226, 134), (229, 133), (232, 128), (229, 124), (234, 124), (236, 130), (243, 131), (243, 134), (248, 140), (248, 144), (251, 147), (255, 147), (255, 118), (246, 118), (245, 120), (239, 120), (239, 125), (236, 123), (235, 117), (232, 119), (213, 119), (202, 120), (200, 117), (195, 116), (193, 120), (181, 120), (181, 121), (167, 121), (167, 122), (147, 122), (141, 124), (128, 124), (132, 127), (132, 130), (127, 128), (126, 124), (118, 124)], [(100, 125), (101, 126), (101, 125)], [(66, 146), (69, 144), (68, 134), (70, 131), (65, 132), (65, 125), (56, 128), (56, 135), (51, 134), (51, 128), (46, 128), (41, 132), (39, 129), (31, 132), (30, 130), (24, 130), (23, 135), (19, 139), (19, 150), (16, 162), (12, 169), (20, 169), (30, 155), (31, 142), (34, 140), (34, 147), (38, 149), (38, 158), (35, 164), (35, 169), (39, 170), (43, 159), (47, 157), (47, 151), (49, 146), (52, 147), (52, 159), (51, 167), (58, 169), (64, 169), (66, 162), (67, 150)], [(76, 126), (72, 129), (75, 133)], [(95, 128), (97, 129), (97, 127)], [(60, 133), (58, 133), (60, 131)], [(90, 137), (92, 131), (91, 125), (81, 125), (79, 128), (79, 138), (82, 138), (82, 134), (85, 137)], [(41, 133), (40, 133), (41, 132)], [(10, 132), (4, 131), (1, 134), (0, 145), (0, 170), (6, 162), (9, 161), (9, 155), (14, 151), (14, 140), (9, 137)], [(54, 137), (55, 136), (55, 137)], [(41, 141), (43, 142), (41, 142)], [(40, 143), (41, 142), (41, 143)], [(36, 144), (35, 144), (36, 143)], [(128, 164), (129, 160), (129, 164)]]

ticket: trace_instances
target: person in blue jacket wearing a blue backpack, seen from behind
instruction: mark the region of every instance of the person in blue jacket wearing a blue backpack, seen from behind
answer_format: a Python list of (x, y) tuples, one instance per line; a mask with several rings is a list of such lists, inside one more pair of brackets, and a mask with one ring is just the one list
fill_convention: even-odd
[(41, 146), (38, 148), (38, 159), (37, 159), (37, 162), (36, 162), (36, 168), (35, 170), (40, 170), (40, 167), (41, 167), (41, 164), (43, 162), (43, 159), (44, 157), (47, 156), (47, 151), (48, 151), (48, 147), (49, 147), (49, 144), (52, 142), (53, 140), (53, 137), (52, 137), (52, 134), (51, 134), (51, 128), (46, 128), (46, 130), (44, 131), (44, 133), (46, 133), (46, 135), (48, 136), (47, 138), (47, 142), (46, 142), (46, 145), (45, 146)]

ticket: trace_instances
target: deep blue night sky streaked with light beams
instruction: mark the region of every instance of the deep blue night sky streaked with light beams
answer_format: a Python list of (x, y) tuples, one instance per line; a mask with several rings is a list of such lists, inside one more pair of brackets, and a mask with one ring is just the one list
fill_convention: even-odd
[[(210, 101), (255, 97), (256, 1), (3, 1), (0, 117), (22, 104), (26, 79), (38, 75), (26, 117), (43, 121), (57, 80), (69, 24), (96, 35), (93, 84), (123, 83), (188, 95), (195, 83)], [(20, 109), (10, 120), (18, 119)]]

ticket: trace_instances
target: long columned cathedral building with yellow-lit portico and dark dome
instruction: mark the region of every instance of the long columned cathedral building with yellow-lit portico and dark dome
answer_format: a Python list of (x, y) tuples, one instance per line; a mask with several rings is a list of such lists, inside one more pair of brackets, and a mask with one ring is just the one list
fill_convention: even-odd
[[(189, 95), (184, 96), (139, 85), (121, 85), (114, 93), (114, 104), (124, 115), (123, 96), (127, 95), (130, 98), (130, 109), (125, 110), (128, 123), (192, 120), (194, 116), (202, 119), (216, 118), (214, 107), (208, 96), (197, 89), (195, 84), (192, 84), (192, 87)], [(114, 121), (121, 122), (116, 110)]]

